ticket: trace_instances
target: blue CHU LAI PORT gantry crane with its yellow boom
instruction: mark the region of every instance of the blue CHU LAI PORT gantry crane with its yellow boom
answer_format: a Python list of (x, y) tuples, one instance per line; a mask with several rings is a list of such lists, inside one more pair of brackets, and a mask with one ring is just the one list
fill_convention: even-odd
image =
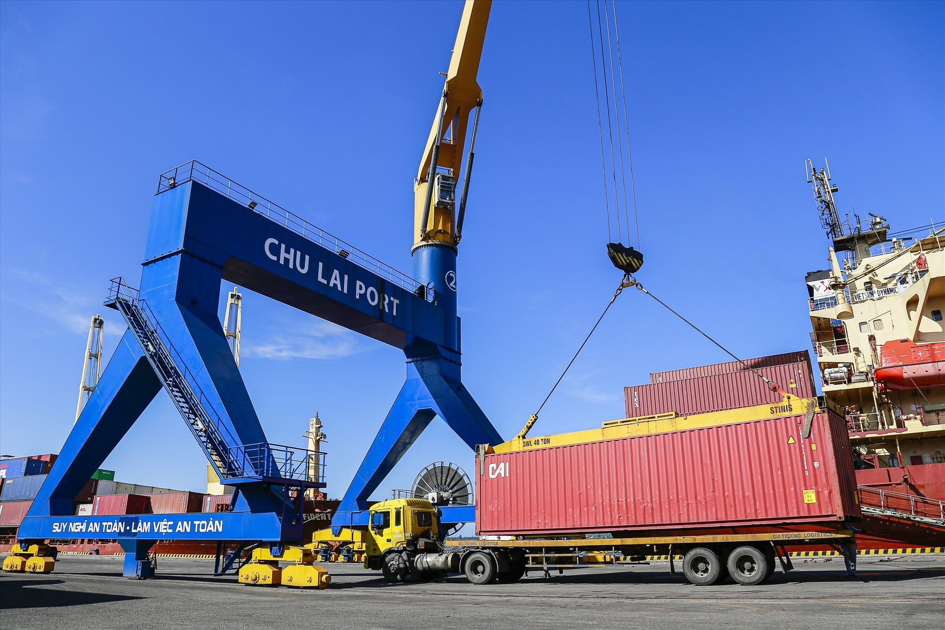
[[(489, 11), (489, 0), (467, 0), (463, 9), (415, 179), (413, 277), (199, 162), (160, 176), (140, 290), (115, 279), (106, 300), (128, 331), (23, 520), (14, 570), (24, 570), (27, 559), (33, 567), (27, 570), (51, 570), (44, 541), (76, 537), (117, 539), (126, 551), (124, 574), (136, 577), (152, 574), (149, 550), (161, 539), (263, 543), (266, 561), (289, 557), (286, 544), (302, 536), (304, 490), (324, 486), (324, 455), (266, 439), (217, 315), (224, 280), (404, 351), (406, 382), (335, 514), (336, 530), (367, 525), (369, 494), (434, 417), (471, 449), (502, 441), (462, 384), (456, 316), (456, 246), (482, 104), (476, 74)], [(232, 512), (73, 516), (77, 492), (162, 389), (221, 483), (234, 487)], [(444, 522), (473, 518), (471, 506), (443, 510)]]

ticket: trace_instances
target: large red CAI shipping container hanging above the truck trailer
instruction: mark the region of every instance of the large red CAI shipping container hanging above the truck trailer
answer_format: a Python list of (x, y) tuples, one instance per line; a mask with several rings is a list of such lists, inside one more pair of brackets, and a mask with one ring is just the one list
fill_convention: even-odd
[(858, 518), (846, 422), (833, 413), (487, 454), (476, 534), (577, 534)]

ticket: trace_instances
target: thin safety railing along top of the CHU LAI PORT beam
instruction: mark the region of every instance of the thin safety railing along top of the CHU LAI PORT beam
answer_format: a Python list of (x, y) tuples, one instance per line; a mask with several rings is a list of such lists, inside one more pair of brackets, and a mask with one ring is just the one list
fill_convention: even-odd
[(158, 179), (158, 194), (176, 188), (187, 181), (198, 181), (217, 193), (228, 196), (246, 206), (252, 212), (262, 214), (275, 223), (300, 234), (312, 243), (334, 251), (342, 258), (377, 274), (386, 281), (393, 282), (411, 293), (420, 293), (421, 287), (424, 287), (425, 290), (425, 285), (421, 284), (420, 281), (414, 280), (389, 264), (382, 263), (361, 249), (353, 247), (333, 234), (312, 225), (298, 214), (290, 213), (278, 204), (266, 199), (266, 197), (253, 193), (246, 186), (236, 183), (196, 160), (180, 164), (177, 168), (162, 173)]

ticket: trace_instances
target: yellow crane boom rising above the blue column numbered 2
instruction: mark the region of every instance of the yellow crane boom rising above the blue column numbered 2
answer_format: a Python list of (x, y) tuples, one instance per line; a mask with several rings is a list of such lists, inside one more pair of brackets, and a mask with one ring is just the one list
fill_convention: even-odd
[[(466, 0), (456, 33), (453, 57), (446, 73), (437, 115), (423, 149), (423, 158), (414, 180), (414, 244), (439, 241), (455, 246), (462, 238), (466, 194), (472, 172), (472, 149), (482, 105), (482, 89), (476, 81), (479, 60), (489, 24), (491, 0)], [(472, 110), (469, 158), (459, 199), (456, 184), (462, 166), (463, 147)]]

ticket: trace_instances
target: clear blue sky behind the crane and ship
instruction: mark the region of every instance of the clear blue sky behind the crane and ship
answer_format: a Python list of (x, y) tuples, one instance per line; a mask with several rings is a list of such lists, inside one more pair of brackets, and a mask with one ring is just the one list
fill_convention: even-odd
[[(59, 451), (91, 315), (140, 278), (159, 173), (197, 159), (409, 272), (412, 178), (462, 5), (0, 4), (0, 451)], [(803, 161), (841, 210), (943, 218), (943, 4), (618, 3), (654, 293), (743, 356), (806, 349), (827, 241)], [(507, 437), (610, 298), (583, 2), (493, 6), (460, 246), (464, 381)], [(226, 287), (224, 287), (226, 288)], [(404, 379), (401, 353), (247, 293), (242, 370), (273, 442), (318, 411), (340, 496)], [(726, 360), (621, 297), (535, 434), (623, 417), (651, 371)], [(436, 420), (377, 496), (472, 454)], [(105, 463), (202, 490), (163, 394)]]

